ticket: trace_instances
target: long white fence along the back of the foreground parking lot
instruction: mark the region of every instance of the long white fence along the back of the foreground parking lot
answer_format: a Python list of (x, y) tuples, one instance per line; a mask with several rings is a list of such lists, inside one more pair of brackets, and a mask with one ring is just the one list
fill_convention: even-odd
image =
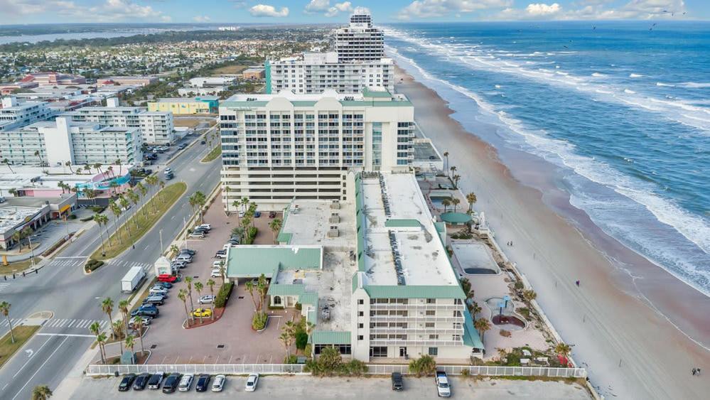
[[(181, 374), (306, 374), (303, 364), (129, 364), (129, 365), (90, 365), (86, 369), (89, 376), (119, 374), (140, 374), (141, 372), (155, 373), (158, 371)], [(583, 368), (552, 368), (552, 367), (488, 367), (470, 365), (439, 365), (439, 371), (447, 374), (460, 375), (468, 369), (470, 375), (485, 377), (558, 377), (558, 378), (586, 378), (586, 369)], [(404, 364), (368, 364), (367, 373), (375, 375), (388, 375), (392, 372), (408, 374), (408, 366)]]

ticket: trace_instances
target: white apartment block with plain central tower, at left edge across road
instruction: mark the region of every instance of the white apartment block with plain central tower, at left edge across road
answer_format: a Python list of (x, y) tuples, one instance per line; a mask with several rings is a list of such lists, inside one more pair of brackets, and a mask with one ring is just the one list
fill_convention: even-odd
[(102, 126), (98, 122), (77, 122), (69, 116), (42, 121), (0, 135), (0, 156), (12, 165), (63, 166), (121, 160), (131, 165), (141, 160), (138, 128)]

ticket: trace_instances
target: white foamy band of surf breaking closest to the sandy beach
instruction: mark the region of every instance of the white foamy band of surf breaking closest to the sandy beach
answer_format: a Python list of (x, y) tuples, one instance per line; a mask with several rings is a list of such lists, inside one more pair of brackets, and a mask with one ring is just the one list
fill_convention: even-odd
[[(463, 96), (466, 96), (469, 99), (472, 99), (473, 102), (480, 107), (483, 114), (492, 115), (495, 119), (500, 121), (500, 124), (506, 126), (507, 129), (509, 129), (513, 134), (516, 134), (522, 138), (524, 143), (527, 144), (527, 151), (530, 151), (531, 153), (534, 153), (547, 161), (569, 168), (571, 171), (574, 171), (576, 175), (586, 178), (587, 180), (598, 185), (602, 185), (603, 187), (609, 188), (615, 193), (618, 193), (618, 195), (623, 196), (623, 198), (633, 201), (634, 204), (639, 205), (643, 209), (647, 210), (647, 212), (650, 212), (650, 214), (655, 217), (657, 222), (674, 229), (675, 232), (694, 244), (697, 249), (704, 252), (704, 254), (710, 254), (710, 223), (702, 217), (693, 215), (683, 210), (672, 200), (661, 198), (659, 195), (656, 195), (654, 183), (625, 175), (610, 166), (608, 163), (599, 161), (596, 158), (582, 156), (576, 152), (576, 146), (570, 144), (568, 141), (551, 138), (544, 132), (529, 131), (529, 129), (522, 124), (522, 121), (511, 117), (510, 114), (507, 114), (505, 111), (499, 110), (492, 104), (485, 102), (485, 100), (465, 87), (456, 85), (448, 80), (435, 77), (430, 72), (424, 70), (424, 68), (419, 66), (419, 64), (411, 58), (407, 58), (402, 55), (397, 55), (397, 58), (407, 61), (407, 64), (412, 65), (412, 67), (414, 67), (414, 69), (419, 72), (421, 77), (425, 80), (439, 83), (451, 90), (463, 94)], [(633, 162), (633, 160), (628, 158), (628, 162)], [(577, 195), (579, 195), (579, 193), (577, 193)], [(593, 214), (593, 210), (589, 210), (587, 206), (588, 205), (583, 205), (581, 209)], [(598, 207), (606, 207), (608, 210), (611, 205), (609, 201), (603, 201), (598, 202)], [(624, 208), (616, 210), (613, 213), (610, 212), (610, 215), (608, 215), (608, 218), (604, 221), (604, 223), (596, 223), (603, 228), (605, 227), (605, 224), (618, 224), (618, 215), (622, 215), (623, 212), (625, 212)], [(613, 219), (614, 215), (616, 216), (615, 220)], [(610, 234), (613, 236), (623, 234), (627, 238), (642, 234), (642, 232), (638, 230), (638, 226), (617, 226), (617, 229), (620, 229), (623, 232), (611, 232)], [(650, 246), (652, 248), (653, 251), (648, 253), (648, 256), (650, 256), (652, 261), (655, 260), (654, 262), (667, 269), (667, 266), (664, 266), (665, 262), (673, 260), (674, 265), (680, 265), (682, 271), (669, 269), (672, 274), (678, 276), (679, 279), (686, 281), (692, 286), (699, 288), (699, 290), (704, 291), (704, 293), (708, 292), (708, 286), (704, 285), (698, 287), (697, 280), (700, 279), (704, 282), (710, 281), (710, 271), (702, 271), (698, 269), (697, 266), (685, 262), (682, 259), (682, 254), (676, 254), (676, 249), (674, 249), (674, 247), (665, 246), (664, 244), (657, 242), (656, 237), (645, 237), (644, 239), (639, 239), (637, 237), (634, 240), (636, 242), (642, 242), (644, 247)], [(662, 261), (659, 261), (659, 259)], [(689, 276), (692, 278), (689, 279)]]

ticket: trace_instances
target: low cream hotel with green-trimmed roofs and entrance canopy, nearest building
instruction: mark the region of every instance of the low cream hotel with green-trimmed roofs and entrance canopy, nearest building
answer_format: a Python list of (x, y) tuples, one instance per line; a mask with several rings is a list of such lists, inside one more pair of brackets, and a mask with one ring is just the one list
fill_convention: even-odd
[[(313, 355), (365, 362), (470, 362), (483, 344), (413, 173), (350, 171), (349, 200), (293, 200), (275, 246), (227, 250), (227, 276), (270, 281), (270, 308), (315, 324)], [(296, 306), (296, 305), (299, 306)]]

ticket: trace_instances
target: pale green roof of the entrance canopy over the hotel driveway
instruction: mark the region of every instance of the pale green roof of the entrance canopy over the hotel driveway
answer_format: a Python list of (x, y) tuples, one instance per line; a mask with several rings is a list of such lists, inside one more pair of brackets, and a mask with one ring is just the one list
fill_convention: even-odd
[(227, 259), (227, 276), (254, 278), (264, 274), (274, 278), (279, 269), (320, 269), (320, 247), (237, 246)]

